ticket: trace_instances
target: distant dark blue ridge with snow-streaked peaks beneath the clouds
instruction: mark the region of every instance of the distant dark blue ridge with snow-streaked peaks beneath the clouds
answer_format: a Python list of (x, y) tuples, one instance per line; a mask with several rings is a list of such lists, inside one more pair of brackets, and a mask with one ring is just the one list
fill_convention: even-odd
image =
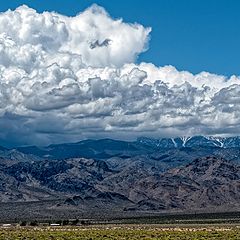
[(240, 137), (193, 136), (161, 139), (141, 137), (131, 142), (113, 139), (88, 139), (76, 143), (54, 144), (46, 147), (18, 147), (16, 150), (48, 159), (66, 159), (70, 157), (108, 159), (112, 156), (130, 157), (170, 149), (200, 148), (208, 150), (240, 148)]

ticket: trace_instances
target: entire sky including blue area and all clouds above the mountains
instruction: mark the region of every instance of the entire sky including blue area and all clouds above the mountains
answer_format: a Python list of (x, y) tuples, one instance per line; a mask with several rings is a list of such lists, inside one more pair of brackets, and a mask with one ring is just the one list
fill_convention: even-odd
[(240, 135), (239, 8), (0, 3), (0, 145)]

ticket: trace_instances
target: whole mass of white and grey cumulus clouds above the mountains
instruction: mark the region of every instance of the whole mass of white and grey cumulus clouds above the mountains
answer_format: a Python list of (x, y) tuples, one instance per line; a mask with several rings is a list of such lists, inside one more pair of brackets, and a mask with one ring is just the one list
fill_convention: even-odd
[(1, 13), (1, 142), (240, 134), (240, 78), (135, 64), (150, 32), (96, 5)]

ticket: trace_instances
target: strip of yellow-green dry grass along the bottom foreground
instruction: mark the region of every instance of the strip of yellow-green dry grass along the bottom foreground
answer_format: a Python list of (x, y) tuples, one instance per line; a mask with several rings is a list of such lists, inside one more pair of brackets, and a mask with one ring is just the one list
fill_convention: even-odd
[(161, 240), (238, 240), (237, 226), (162, 227), (158, 225), (108, 225), (91, 227), (8, 227), (0, 229), (0, 239), (161, 239)]

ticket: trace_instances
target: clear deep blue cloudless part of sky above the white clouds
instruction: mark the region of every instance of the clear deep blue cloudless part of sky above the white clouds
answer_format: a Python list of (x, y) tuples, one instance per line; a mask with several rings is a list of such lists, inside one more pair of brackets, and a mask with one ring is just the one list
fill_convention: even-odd
[(240, 75), (238, 0), (11, 0), (1, 11), (27, 4), (38, 11), (75, 15), (93, 3), (125, 22), (152, 27), (149, 50), (138, 61), (171, 64), (192, 73)]

